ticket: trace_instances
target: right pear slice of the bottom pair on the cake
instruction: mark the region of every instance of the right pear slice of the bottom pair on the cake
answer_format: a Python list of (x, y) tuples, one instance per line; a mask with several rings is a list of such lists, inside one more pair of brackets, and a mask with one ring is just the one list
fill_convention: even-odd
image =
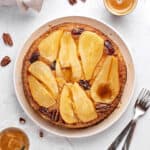
[(82, 122), (88, 122), (97, 118), (97, 113), (95, 111), (92, 101), (88, 98), (83, 89), (74, 83), (71, 87), (74, 108), (78, 118)]

